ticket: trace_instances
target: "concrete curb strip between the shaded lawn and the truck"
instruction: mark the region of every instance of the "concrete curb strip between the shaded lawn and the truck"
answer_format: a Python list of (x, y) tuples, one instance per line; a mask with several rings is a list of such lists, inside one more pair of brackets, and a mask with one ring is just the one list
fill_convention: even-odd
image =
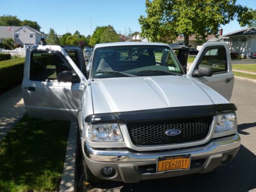
[(59, 191), (76, 191), (76, 152), (78, 138), (77, 122), (71, 122), (69, 128), (69, 138), (65, 163), (63, 167), (62, 178), (59, 186)]

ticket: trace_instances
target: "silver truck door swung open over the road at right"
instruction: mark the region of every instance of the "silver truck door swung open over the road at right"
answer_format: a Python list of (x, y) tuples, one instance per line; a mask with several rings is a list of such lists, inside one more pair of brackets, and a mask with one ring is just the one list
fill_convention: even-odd
[[(198, 70), (203, 68), (210, 68), (212, 75), (198, 75)], [(231, 68), (229, 48), (226, 42), (206, 42), (191, 65), (187, 76), (201, 81), (220, 93), (227, 100), (230, 100), (233, 91), (234, 75)]]

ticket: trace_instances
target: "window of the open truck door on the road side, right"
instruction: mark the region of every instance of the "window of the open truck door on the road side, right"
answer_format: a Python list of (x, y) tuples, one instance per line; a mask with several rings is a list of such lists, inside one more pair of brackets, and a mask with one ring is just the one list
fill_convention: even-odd
[(227, 72), (226, 49), (223, 46), (206, 49), (203, 58), (199, 61), (200, 66), (210, 67), (213, 74)]

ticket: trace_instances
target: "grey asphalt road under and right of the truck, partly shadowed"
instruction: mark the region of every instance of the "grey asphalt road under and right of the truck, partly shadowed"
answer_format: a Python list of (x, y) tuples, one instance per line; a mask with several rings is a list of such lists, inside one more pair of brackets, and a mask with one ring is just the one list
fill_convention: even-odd
[(235, 80), (230, 102), (238, 107), (238, 155), (212, 173), (141, 181), (105, 181), (83, 191), (256, 191), (256, 83)]

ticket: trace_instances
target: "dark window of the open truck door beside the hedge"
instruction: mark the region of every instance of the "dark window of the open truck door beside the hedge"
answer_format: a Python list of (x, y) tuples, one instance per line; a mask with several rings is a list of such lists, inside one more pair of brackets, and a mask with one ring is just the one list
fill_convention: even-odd
[(30, 60), (30, 80), (57, 81), (62, 71), (71, 71), (67, 62), (57, 52), (32, 52)]

